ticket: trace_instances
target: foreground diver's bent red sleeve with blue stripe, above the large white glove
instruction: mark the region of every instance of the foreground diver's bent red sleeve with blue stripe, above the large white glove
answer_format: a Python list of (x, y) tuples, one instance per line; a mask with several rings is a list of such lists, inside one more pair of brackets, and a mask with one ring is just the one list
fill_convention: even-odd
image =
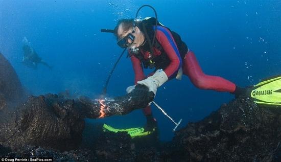
[(175, 77), (179, 68), (182, 65), (182, 60), (180, 53), (177, 49), (176, 42), (171, 34), (171, 32), (165, 28), (157, 26), (156, 39), (161, 44), (163, 50), (167, 53), (170, 64), (166, 67), (164, 72), (169, 79)]

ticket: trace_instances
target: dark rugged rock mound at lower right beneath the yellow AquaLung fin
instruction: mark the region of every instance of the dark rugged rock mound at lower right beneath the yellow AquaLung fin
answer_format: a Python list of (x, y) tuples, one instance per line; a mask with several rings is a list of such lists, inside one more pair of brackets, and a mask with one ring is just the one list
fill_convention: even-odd
[(281, 141), (280, 112), (250, 99), (233, 100), (178, 131), (173, 148), (182, 148), (182, 160), (272, 161)]

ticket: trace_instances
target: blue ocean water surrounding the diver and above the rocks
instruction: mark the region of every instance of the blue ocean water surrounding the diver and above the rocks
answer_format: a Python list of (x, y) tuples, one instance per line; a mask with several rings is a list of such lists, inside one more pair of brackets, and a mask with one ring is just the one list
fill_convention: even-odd
[[(120, 18), (134, 18), (142, 5), (153, 6), (158, 20), (180, 34), (194, 51), (204, 73), (224, 77), (240, 86), (281, 73), (281, 1), (6, 1), (0, 0), (0, 51), (14, 66), (21, 83), (34, 95), (70, 90), (98, 98), (122, 49), (112, 34)], [(144, 8), (139, 16), (154, 16)], [(53, 66), (33, 70), (21, 63), (22, 39)], [(149, 71), (146, 71), (149, 72)], [(108, 96), (125, 94), (134, 82), (125, 56), (108, 85)], [(184, 76), (162, 85), (155, 102), (180, 127), (195, 122), (233, 99), (231, 94), (196, 88)], [(160, 139), (173, 137), (174, 124), (155, 106)], [(141, 110), (88, 122), (113, 127), (139, 127)]]

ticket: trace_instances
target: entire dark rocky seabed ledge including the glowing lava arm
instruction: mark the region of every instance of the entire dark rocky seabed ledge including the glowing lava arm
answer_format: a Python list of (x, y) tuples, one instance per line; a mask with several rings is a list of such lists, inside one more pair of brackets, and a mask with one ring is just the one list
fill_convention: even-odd
[[(104, 132), (85, 118), (142, 108), (153, 99), (144, 87), (112, 100), (63, 95), (25, 96), (0, 54), (0, 157), (53, 157), (55, 161), (280, 161), (280, 107), (241, 97), (176, 131), (171, 142)], [(17, 102), (16, 102), (17, 101)], [(102, 105), (105, 105), (101, 108)], [(86, 129), (85, 129), (86, 128)]]

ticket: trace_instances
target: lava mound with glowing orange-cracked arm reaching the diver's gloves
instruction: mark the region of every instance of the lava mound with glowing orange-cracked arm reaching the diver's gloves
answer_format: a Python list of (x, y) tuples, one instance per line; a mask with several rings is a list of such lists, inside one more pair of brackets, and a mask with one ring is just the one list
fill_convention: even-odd
[[(128, 112), (125, 106), (129, 103), (133, 107), (133, 100), (137, 100), (126, 102), (131, 95), (106, 101), (108, 108), (104, 112), (107, 115)], [(75, 149), (81, 142), (83, 119), (99, 118), (101, 110), (99, 102), (87, 98), (69, 100), (52, 94), (31, 96), (14, 111), (0, 111), (3, 117), (0, 118), (0, 144), (13, 149), (25, 145)]]

